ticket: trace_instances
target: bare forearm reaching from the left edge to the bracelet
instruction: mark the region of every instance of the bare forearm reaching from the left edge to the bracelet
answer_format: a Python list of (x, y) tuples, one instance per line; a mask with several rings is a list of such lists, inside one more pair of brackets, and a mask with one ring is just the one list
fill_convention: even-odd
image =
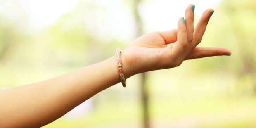
[[(126, 77), (130, 77), (132, 74), (127, 66), (123, 68)], [(4, 90), (0, 92), (0, 125), (46, 125), (118, 82), (117, 62), (113, 56), (56, 78)]]

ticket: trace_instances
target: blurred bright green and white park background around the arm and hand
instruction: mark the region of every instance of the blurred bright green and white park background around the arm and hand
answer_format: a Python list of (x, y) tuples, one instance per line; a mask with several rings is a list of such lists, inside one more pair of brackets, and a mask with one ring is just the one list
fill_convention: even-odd
[(127, 88), (114, 85), (43, 128), (255, 128), (255, 0), (0, 0), (0, 89), (73, 71), (143, 33), (175, 29), (190, 3), (195, 24), (215, 10), (200, 46), (228, 48), (230, 57), (132, 76)]

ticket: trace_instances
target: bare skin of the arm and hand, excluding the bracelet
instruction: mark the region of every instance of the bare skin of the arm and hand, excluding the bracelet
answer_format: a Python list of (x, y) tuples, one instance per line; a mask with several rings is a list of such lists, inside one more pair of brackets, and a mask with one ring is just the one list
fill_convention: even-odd
[[(145, 34), (121, 53), (126, 78), (145, 71), (179, 66), (184, 60), (231, 54), (225, 48), (197, 47), (213, 9), (206, 10), (194, 29), (192, 5), (178, 29)], [(100, 78), (100, 79), (99, 79)], [(0, 91), (1, 128), (35, 128), (60, 118), (74, 107), (119, 83), (116, 57), (49, 80)]]

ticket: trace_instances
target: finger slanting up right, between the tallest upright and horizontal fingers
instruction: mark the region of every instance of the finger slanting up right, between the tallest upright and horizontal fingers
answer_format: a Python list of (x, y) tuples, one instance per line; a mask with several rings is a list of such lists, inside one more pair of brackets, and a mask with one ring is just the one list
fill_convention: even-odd
[(194, 47), (201, 42), (202, 36), (204, 35), (204, 32), (206, 30), (206, 26), (213, 12), (214, 12), (213, 9), (207, 9), (202, 14), (199, 22), (197, 23), (197, 26), (195, 27), (195, 31), (194, 31), (194, 37), (193, 37)]

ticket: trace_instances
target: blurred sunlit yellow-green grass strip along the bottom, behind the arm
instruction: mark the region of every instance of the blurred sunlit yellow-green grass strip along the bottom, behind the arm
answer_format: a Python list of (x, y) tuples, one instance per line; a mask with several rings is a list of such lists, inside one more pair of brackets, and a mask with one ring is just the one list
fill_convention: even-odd
[[(130, 126), (137, 124), (140, 126), (141, 113), (140, 106), (135, 102), (127, 104), (111, 103), (93, 111), (89, 116), (67, 120), (61, 118), (43, 128), (104, 128)], [(250, 128), (255, 126), (256, 120), (256, 100), (241, 99), (235, 100), (211, 100), (211, 102), (190, 101), (181, 104), (172, 102), (163, 104), (162, 101), (150, 104), (151, 123), (155, 127), (172, 126), (177, 122), (194, 122), (190, 127), (195, 128)]]

